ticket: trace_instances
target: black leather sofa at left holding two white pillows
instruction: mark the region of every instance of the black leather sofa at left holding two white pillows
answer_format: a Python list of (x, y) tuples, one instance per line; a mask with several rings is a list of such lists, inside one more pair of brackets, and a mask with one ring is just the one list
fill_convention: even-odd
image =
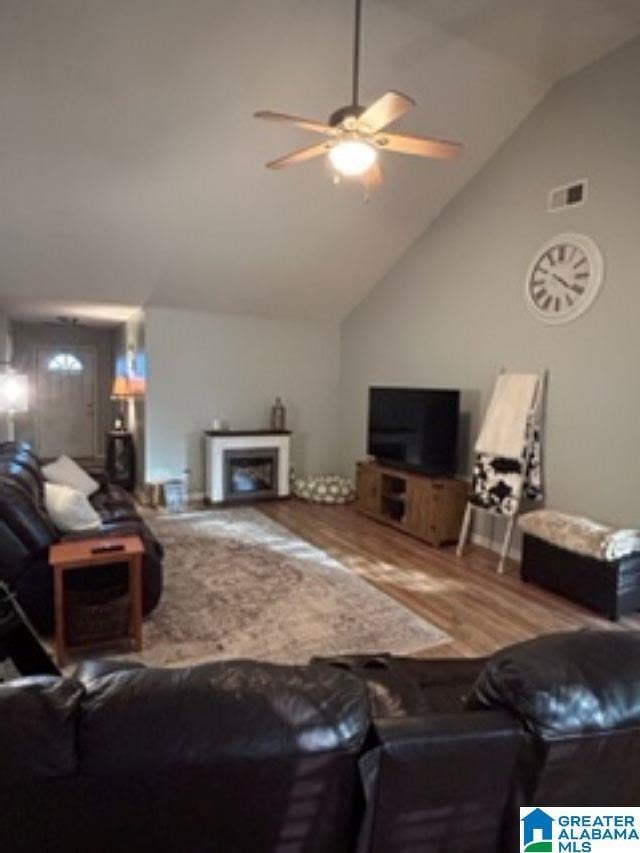
[[(136, 533), (142, 538), (143, 612), (151, 612), (162, 593), (162, 546), (123, 489), (103, 480), (100, 490), (90, 500), (103, 522), (101, 536)], [(87, 534), (61, 535), (49, 519), (44, 508), (40, 461), (29, 446), (16, 442), (0, 444), (0, 580), (16, 594), (41, 633), (49, 634), (53, 629), (49, 546), (61, 539), (83, 535)], [(69, 584), (83, 590), (124, 585), (125, 572), (117, 564), (86, 572), (79, 570), (73, 573)]]

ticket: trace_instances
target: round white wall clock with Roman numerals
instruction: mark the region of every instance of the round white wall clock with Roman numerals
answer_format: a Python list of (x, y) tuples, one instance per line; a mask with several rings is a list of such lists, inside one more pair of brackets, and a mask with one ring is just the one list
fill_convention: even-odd
[(527, 308), (543, 323), (568, 323), (593, 304), (604, 277), (602, 254), (584, 234), (559, 234), (542, 246), (525, 282)]

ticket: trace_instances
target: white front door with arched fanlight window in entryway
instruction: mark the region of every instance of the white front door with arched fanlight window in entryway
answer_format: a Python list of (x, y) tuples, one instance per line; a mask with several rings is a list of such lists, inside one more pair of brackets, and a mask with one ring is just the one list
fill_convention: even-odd
[(36, 349), (36, 440), (44, 458), (91, 458), (96, 450), (96, 351)]

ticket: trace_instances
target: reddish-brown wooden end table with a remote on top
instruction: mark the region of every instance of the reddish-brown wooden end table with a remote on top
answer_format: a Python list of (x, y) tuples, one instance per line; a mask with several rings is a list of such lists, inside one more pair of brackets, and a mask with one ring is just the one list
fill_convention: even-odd
[[(105, 545), (121, 545), (115, 551), (96, 551)], [(128, 639), (134, 651), (142, 649), (142, 555), (144, 545), (139, 536), (101, 536), (59, 542), (49, 549), (49, 563), (53, 569), (55, 610), (56, 657), (60, 666), (67, 660), (67, 652), (104, 645), (104, 641), (68, 646), (64, 620), (64, 576), (74, 569), (126, 563), (129, 567), (129, 634), (127, 638), (114, 637), (109, 643)]]

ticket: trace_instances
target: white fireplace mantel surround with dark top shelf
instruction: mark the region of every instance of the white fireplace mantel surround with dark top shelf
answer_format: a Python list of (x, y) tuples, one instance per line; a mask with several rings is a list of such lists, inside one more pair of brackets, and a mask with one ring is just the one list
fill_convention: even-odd
[(279, 498), (289, 496), (289, 432), (268, 430), (211, 431), (205, 432), (206, 497), (211, 503), (224, 501), (224, 454), (226, 450), (271, 450), (278, 451)]

